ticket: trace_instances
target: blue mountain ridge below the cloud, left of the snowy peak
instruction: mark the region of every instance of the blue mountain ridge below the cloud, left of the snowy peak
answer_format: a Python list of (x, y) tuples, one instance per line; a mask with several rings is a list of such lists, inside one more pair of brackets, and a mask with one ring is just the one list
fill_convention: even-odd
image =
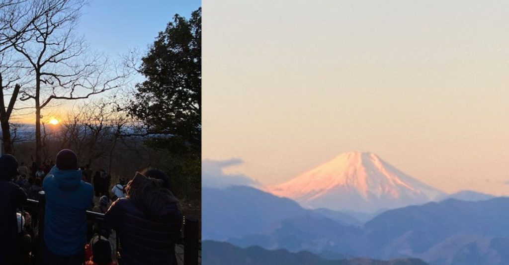
[(271, 225), (297, 216), (330, 217), (344, 225), (360, 225), (357, 219), (331, 210), (308, 210), (297, 202), (246, 186), (202, 188), (202, 238), (224, 241), (262, 233)]

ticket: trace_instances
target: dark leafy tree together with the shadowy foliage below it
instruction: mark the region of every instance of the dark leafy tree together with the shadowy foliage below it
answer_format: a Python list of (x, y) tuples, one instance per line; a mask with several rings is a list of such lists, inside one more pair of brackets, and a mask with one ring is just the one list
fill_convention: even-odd
[(175, 15), (160, 32), (139, 72), (129, 113), (151, 135), (145, 143), (168, 151), (164, 168), (177, 194), (200, 198), (202, 138), (202, 9)]

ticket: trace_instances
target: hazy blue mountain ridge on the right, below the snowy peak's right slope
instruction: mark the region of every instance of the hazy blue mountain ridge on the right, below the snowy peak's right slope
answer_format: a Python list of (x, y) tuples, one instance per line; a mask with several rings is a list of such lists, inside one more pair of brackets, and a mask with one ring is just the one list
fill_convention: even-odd
[[(282, 220), (261, 234), (228, 240), (241, 247), (334, 252), (377, 259), (420, 258), (435, 265), (509, 264), (509, 198), (447, 199), (386, 211), (363, 227), (323, 217)], [(320, 255), (320, 254), (318, 254)]]

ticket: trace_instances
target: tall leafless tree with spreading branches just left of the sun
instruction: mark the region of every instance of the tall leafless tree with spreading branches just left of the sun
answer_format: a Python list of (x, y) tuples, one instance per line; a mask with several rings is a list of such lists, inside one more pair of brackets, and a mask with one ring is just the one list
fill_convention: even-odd
[[(31, 36), (11, 42), (34, 75), (32, 85), (21, 89), (21, 101), (34, 100), (36, 163), (41, 162), (41, 110), (53, 100), (86, 99), (123, 85), (128, 69), (110, 69), (107, 58), (89, 52), (75, 27), (85, 0), (41, 0), (46, 10), (35, 19)], [(14, 31), (13, 28), (11, 30)]]

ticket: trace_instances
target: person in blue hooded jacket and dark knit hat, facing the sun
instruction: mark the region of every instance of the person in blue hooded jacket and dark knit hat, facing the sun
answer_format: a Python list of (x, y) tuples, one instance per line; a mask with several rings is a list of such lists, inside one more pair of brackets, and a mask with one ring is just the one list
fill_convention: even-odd
[(56, 165), (43, 180), (47, 264), (82, 264), (87, 242), (86, 211), (93, 203), (92, 185), (81, 180), (78, 159), (71, 150), (56, 155)]

